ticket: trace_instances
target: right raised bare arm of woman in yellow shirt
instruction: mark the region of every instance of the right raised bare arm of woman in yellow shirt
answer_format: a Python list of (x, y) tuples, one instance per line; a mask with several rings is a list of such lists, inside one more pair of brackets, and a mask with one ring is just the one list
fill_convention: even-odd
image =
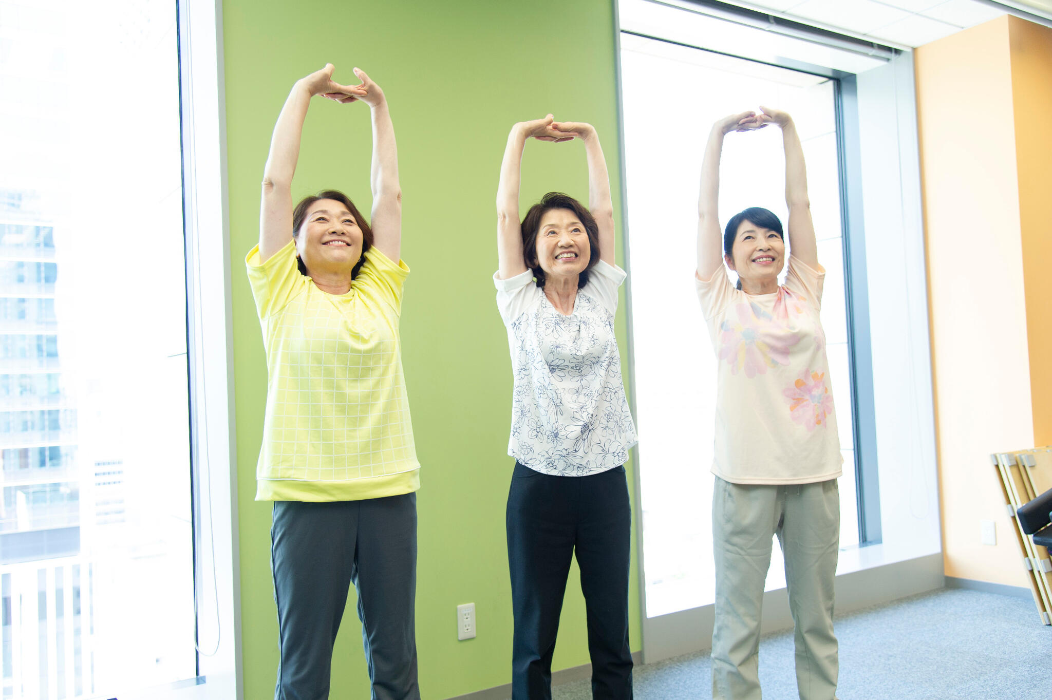
[(397, 263), (402, 248), (402, 187), (398, 180), (394, 125), (384, 91), (364, 70), (355, 68), (355, 75), (362, 81), (358, 87), (364, 91), (358, 99), (369, 105), (372, 112), (372, 167), (369, 171), (372, 244)]

